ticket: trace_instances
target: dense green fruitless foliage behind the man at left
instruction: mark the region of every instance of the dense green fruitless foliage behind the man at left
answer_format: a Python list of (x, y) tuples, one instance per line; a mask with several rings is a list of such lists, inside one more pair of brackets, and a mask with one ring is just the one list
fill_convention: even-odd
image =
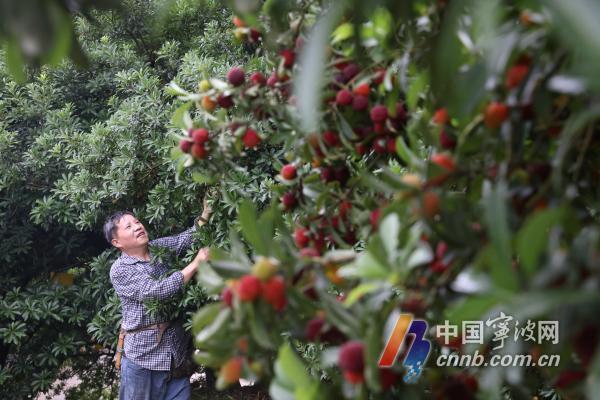
[[(124, 14), (74, 20), (88, 69), (65, 60), (19, 84), (0, 65), (2, 398), (71, 375), (84, 381), (72, 393), (80, 398), (114, 385), (120, 308), (108, 271), (117, 254), (102, 237), (104, 218), (133, 210), (152, 237), (191, 225), (205, 191), (188, 173), (176, 176), (164, 87), (175, 78), (193, 88), (203, 71), (223, 73), (252, 54), (218, 3), (182, 2), (160, 19), (163, 29), (152, 28), (164, 18), (161, 2), (125, 4)], [(256, 168), (224, 182), (229, 196), (215, 200), (198, 245), (226, 244), (240, 197), (266, 200)], [(175, 309), (185, 317), (205, 301), (193, 285)]]

